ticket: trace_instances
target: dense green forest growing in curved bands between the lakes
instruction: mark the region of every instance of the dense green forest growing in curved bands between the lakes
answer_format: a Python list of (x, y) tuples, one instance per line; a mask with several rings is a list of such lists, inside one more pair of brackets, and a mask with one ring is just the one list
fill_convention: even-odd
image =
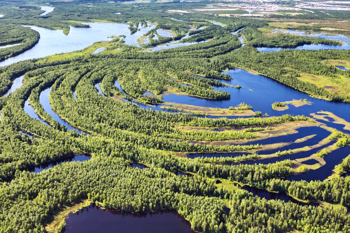
[[(350, 178), (343, 176), (350, 170), (349, 156), (332, 167), (336, 175), (332, 179), (311, 182), (286, 179), (315, 168), (283, 157), (285, 154), (280, 151), (265, 157), (283, 160), (258, 162), (263, 159), (260, 152), (277, 151), (307, 137), (293, 139), (290, 144), (272, 145), (259, 140), (296, 134), (303, 125), (322, 125), (310, 116), (262, 116), (259, 106), (249, 103), (231, 106), (229, 110), (249, 110), (250, 115), (231, 118), (215, 114), (196, 116), (199, 114), (175, 107), (174, 111), (139, 107), (140, 103), (164, 104), (163, 97), (174, 93), (205, 101), (233, 99), (235, 96), (218, 88), (232, 87), (227, 83), (231, 76), (223, 71), (237, 67), (317, 97), (350, 102), (349, 94), (333, 93), (300, 79), (307, 73), (341, 84), (339, 77), (347, 80), (349, 72), (324, 61), (350, 61), (348, 50), (262, 53), (254, 48), (339, 42), (292, 35), (268, 37), (258, 29), (268, 27), (268, 20), (169, 11), (190, 10), (209, 3), (118, 5), (106, 1), (55, 1), (50, 2), (54, 11), (40, 15), (43, 11), (39, 5), (45, 2), (0, 2), (0, 14), (4, 15), (0, 17), (0, 46), (21, 43), (0, 49), (0, 59), (16, 56), (40, 39), (38, 32), (21, 25), (63, 29), (66, 35), (70, 27), (89, 27), (80, 22), (127, 23), (131, 35), (154, 25), (143, 35), (148, 36), (149, 42), (138, 46), (124, 44), (120, 35), (105, 42), (102, 53), (72, 51), (59, 54), (59, 58), (35, 58), (0, 67), (0, 232), (47, 232), (45, 227), (59, 211), (86, 199), (103, 208), (126, 212), (176, 210), (199, 232), (350, 232)], [(320, 19), (324, 16), (319, 12), (315, 15)], [(333, 15), (343, 19), (346, 13)], [(173, 36), (161, 36), (157, 30), (168, 30)], [(244, 38), (245, 46), (238, 36)], [(149, 47), (169, 42), (203, 43), (146, 52)], [(21, 75), (21, 86), (5, 95)], [(48, 88), (52, 112), (66, 125), (60, 124), (42, 104), (41, 94)], [(275, 101), (273, 107), (286, 107), (284, 102)], [(28, 108), (33, 112), (29, 113)], [(345, 127), (347, 123), (341, 122)], [(307, 152), (311, 146), (330, 145), (327, 149), (333, 151), (349, 146), (348, 133), (323, 126), (328, 134), (318, 144), (301, 148), (296, 145), (295, 151), (286, 154)], [(313, 137), (312, 134), (307, 136)], [(320, 164), (330, 153), (325, 151), (318, 158)], [(195, 153), (232, 155), (186, 156)], [(89, 155), (90, 159), (32, 172), (36, 166), (79, 154)], [(256, 163), (244, 163), (250, 160)], [(131, 163), (149, 168), (132, 168)], [(260, 198), (241, 188), (244, 185), (285, 194), (304, 204)], [(55, 231), (61, 232), (64, 225), (61, 219)]]

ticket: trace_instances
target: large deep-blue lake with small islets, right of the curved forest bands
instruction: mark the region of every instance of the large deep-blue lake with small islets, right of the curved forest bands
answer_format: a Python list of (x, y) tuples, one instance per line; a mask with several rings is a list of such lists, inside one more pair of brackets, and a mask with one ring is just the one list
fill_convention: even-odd
[[(230, 106), (237, 106), (240, 103), (245, 102), (253, 106), (254, 111), (261, 111), (263, 114), (267, 113), (269, 116), (281, 116), (284, 114), (290, 115), (306, 115), (309, 116), (310, 113), (315, 113), (317, 111), (330, 111), (335, 115), (345, 119), (345, 121), (350, 122), (350, 104), (344, 102), (336, 101), (326, 101), (320, 100), (308, 96), (306, 93), (300, 92), (294, 88), (288, 87), (278, 81), (268, 78), (264, 75), (252, 74), (241, 69), (229, 70), (223, 72), (224, 74), (229, 74), (231, 80), (220, 80), (227, 84), (241, 85), (243, 88), (237, 89), (233, 87), (214, 87), (216, 90), (223, 90), (231, 94), (230, 99), (225, 100), (208, 100), (203, 98), (191, 97), (186, 95), (163, 95), (165, 102), (175, 102), (180, 104), (197, 105), (201, 107), (211, 107), (211, 108), (229, 108)], [(250, 89), (250, 90), (249, 90)], [(276, 91), (278, 90), (278, 91)], [(261, 98), (264, 96), (264, 98)], [(289, 109), (285, 111), (273, 110), (271, 104), (275, 101), (290, 101), (290, 100), (307, 99), (311, 101), (311, 105), (303, 105), (301, 107), (294, 107), (292, 104), (288, 104)], [(154, 105), (150, 107), (149, 105), (139, 104), (142, 108), (148, 108), (153, 110), (161, 110), (161, 104)], [(213, 117), (215, 118), (215, 117)], [(236, 116), (228, 118), (237, 118)], [(346, 132), (343, 129), (344, 125), (336, 124), (333, 122), (326, 122), (318, 120), (332, 128)], [(312, 132), (310, 132), (312, 134)], [(329, 135), (328, 132), (324, 131), (321, 133), (321, 137), (325, 138)], [(316, 144), (316, 143), (315, 143)]]

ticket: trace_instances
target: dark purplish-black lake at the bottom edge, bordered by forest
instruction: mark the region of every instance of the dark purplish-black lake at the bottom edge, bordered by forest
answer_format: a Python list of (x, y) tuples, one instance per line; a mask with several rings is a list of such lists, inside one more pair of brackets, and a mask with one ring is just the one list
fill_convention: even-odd
[(130, 213), (100, 209), (94, 204), (70, 213), (63, 232), (194, 233), (190, 223), (176, 211)]

